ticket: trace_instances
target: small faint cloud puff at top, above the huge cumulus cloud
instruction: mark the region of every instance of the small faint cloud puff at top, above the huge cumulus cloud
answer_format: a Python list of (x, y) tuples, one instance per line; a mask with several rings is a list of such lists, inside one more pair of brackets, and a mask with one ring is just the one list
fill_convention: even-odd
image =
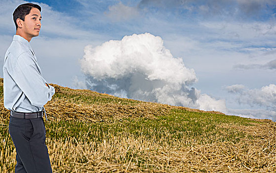
[(121, 3), (109, 6), (109, 11), (105, 13), (111, 20), (127, 21), (139, 17), (140, 13), (137, 7), (126, 6)]

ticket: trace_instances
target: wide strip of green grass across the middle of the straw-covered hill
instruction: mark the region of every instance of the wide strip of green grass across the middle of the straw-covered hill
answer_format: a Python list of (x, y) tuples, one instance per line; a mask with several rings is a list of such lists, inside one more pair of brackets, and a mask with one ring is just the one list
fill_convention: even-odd
[[(76, 137), (101, 142), (111, 136), (132, 136), (152, 140), (162, 145), (174, 145), (179, 141), (183, 145), (208, 144), (217, 141), (239, 141), (240, 138), (250, 138), (243, 132), (223, 128), (223, 124), (251, 126), (252, 121), (236, 116), (226, 116), (209, 113), (172, 110), (169, 115), (157, 119), (125, 118), (109, 119), (102, 122), (63, 121), (49, 122), (47, 136), (50, 138)], [(60, 131), (63, 131), (60, 133)], [(223, 135), (221, 135), (223, 133)], [(192, 142), (191, 142), (192, 141)]]

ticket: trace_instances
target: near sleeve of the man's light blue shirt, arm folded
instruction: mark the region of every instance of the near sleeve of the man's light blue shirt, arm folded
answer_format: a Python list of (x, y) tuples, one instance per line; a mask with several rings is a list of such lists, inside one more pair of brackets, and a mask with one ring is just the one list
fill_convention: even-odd
[(36, 62), (28, 52), (17, 58), (10, 74), (32, 105), (42, 107), (52, 99), (54, 87), (45, 85)]

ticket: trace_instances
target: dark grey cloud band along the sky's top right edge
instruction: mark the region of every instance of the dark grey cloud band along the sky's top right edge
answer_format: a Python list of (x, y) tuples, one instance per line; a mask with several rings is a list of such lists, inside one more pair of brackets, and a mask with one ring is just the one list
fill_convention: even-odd
[(274, 0), (141, 0), (140, 8), (178, 9), (181, 14), (200, 18), (262, 20), (273, 17)]

